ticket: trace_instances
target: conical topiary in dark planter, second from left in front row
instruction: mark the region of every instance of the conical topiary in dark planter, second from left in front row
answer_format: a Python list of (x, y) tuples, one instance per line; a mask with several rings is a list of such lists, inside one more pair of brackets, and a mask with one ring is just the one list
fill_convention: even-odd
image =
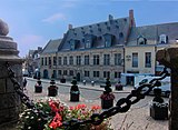
[(55, 82), (53, 77), (52, 77), (51, 81), (50, 81), (50, 86), (48, 87), (48, 96), (49, 97), (56, 97), (57, 94), (58, 94), (58, 87), (56, 86), (56, 82)]

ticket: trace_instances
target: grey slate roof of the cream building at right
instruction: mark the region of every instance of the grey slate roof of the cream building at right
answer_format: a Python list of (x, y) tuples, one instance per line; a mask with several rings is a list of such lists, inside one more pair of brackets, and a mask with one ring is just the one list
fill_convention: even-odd
[(160, 34), (168, 36), (168, 43), (175, 43), (178, 39), (178, 22), (135, 27), (131, 29), (127, 46), (137, 46), (139, 36), (145, 37), (148, 44), (150, 44), (150, 41), (157, 44)]

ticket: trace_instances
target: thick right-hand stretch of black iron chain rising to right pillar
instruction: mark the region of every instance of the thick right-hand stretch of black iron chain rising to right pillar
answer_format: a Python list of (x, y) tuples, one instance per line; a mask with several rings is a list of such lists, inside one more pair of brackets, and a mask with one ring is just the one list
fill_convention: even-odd
[[(121, 98), (117, 101), (116, 107), (112, 107), (101, 113), (93, 113), (89, 120), (71, 120), (69, 122), (63, 122), (63, 126), (68, 130), (77, 129), (79, 126), (85, 123), (92, 123), (92, 124), (100, 124), (105, 119), (112, 117), (117, 113), (127, 112), (131, 104), (137, 103), (141, 99), (145, 99), (145, 97), (155, 88), (160, 87), (160, 80), (165, 79), (168, 76), (168, 71), (166, 68), (164, 68), (164, 71), (160, 73), (160, 78), (155, 78), (150, 80), (149, 83), (141, 84), (136, 90), (132, 90), (130, 94), (128, 94), (126, 98)], [(131, 100), (132, 99), (132, 100)]]

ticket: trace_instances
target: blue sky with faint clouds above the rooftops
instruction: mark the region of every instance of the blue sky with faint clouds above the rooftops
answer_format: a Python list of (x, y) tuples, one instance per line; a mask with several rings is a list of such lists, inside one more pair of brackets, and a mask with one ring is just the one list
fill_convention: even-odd
[(73, 27), (128, 17), (134, 9), (136, 26), (178, 22), (178, 1), (174, 0), (0, 0), (0, 19), (9, 24), (18, 42), (19, 56), (62, 38)]

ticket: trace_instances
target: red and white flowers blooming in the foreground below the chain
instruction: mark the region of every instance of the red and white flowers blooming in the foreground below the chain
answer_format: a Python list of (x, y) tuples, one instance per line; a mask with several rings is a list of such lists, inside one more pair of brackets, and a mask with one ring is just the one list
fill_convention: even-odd
[[(39, 110), (42, 110), (48, 117), (42, 120), (34, 114), (31, 109), (26, 109), (20, 114), (20, 129), (21, 130), (65, 130), (62, 126), (63, 121), (70, 121), (71, 119), (88, 120), (93, 112), (101, 112), (99, 106), (92, 106), (88, 108), (86, 104), (77, 104), (75, 107), (68, 107), (66, 103), (59, 100), (40, 100), (36, 103)], [(110, 128), (109, 119), (106, 119), (101, 124), (93, 126), (87, 123), (80, 126), (78, 130), (112, 130)]]

